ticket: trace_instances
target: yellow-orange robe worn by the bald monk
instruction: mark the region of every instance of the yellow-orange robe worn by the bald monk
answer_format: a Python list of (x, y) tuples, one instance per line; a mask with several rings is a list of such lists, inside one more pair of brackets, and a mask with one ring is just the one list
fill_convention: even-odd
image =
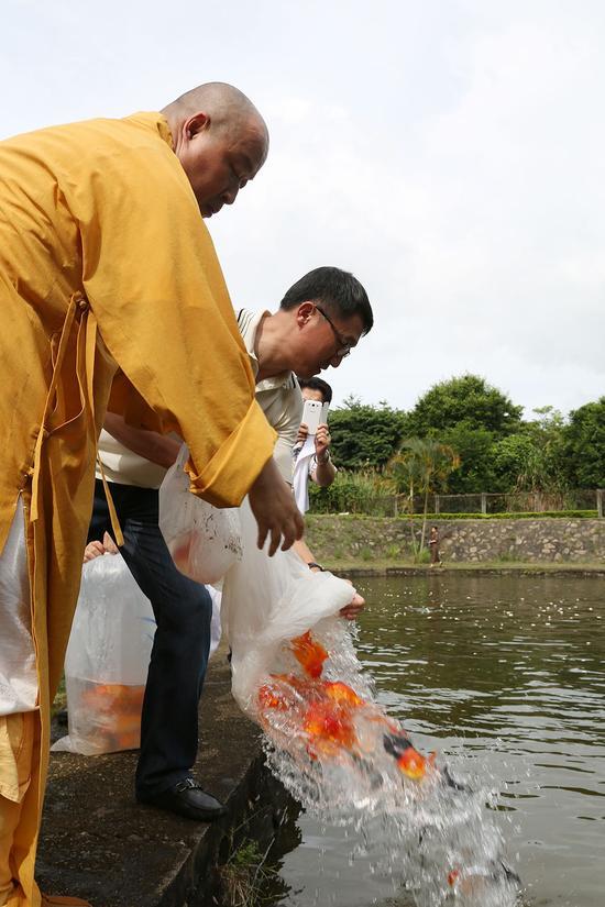
[(193, 490), (219, 506), (241, 501), (275, 440), (161, 114), (0, 142), (0, 551), (21, 493), (40, 685), (40, 741), (8, 903), (36, 907), (50, 705), (112, 379), (111, 409), (133, 424), (178, 432), (189, 445)]

